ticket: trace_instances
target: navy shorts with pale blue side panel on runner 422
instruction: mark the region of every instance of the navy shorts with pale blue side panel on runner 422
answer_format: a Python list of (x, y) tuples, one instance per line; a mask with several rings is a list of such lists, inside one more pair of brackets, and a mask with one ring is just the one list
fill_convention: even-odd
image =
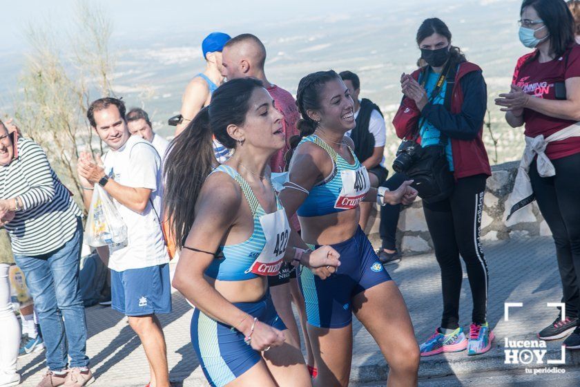
[[(262, 323), (278, 330), (287, 329), (278, 317), (269, 293), (258, 302), (233, 305), (253, 317), (258, 317)], [(213, 387), (225, 386), (262, 359), (260, 352), (244, 342), (243, 333), (231, 330), (230, 325), (207, 317), (197, 308), (191, 318), (191, 343), (202, 370)]]

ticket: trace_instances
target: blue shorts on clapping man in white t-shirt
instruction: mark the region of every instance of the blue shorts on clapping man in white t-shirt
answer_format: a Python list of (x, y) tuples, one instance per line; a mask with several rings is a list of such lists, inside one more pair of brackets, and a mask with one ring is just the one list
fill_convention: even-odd
[(110, 271), (111, 307), (126, 316), (171, 313), (169, 264)]

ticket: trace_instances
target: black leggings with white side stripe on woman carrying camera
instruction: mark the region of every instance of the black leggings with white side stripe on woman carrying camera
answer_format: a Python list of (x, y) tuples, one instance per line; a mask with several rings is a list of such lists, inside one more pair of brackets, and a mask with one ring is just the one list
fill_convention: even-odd
[(425, 220), (441, 267), (441, 328), (459, 327), (459, 296), (463, 280), (460, 254), (467, 267), (472, 291), (472, 322), (481, 324), (486, 321), (487, 263), (479, 240), (486, 178), (485, 175), (476, 175), (458, 179), (449, 198), (432, 204), (423, 202)]

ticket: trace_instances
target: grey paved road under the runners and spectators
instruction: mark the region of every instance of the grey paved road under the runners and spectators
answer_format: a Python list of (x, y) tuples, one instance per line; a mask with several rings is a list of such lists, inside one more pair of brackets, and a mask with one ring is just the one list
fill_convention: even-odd
[[(423, 359), (421, 386), (544, 386), (574, 385), (579, 380), (580, 354), (567, 354), (559, 366), (565, 374), (527, 374), (525, 366), (504, 364), (504, 340), (534, 339), (536, 332), (557, 316), (546, 303), (557, 302), (561, 287), (551, 238), (510, 240), (484, 244), (490, 270), (488, 320), (496, 333), (494, 348), (479, 357), (465, 352)], [(432, 333), (441, 319), (441, 281), (433, 254), (403, 258), (389, 269), (400, 286), (418, 341)], [(467, 277), (465, 276), (467, 280)], [(504, 303), (521, 302), (504, 321)], [(461, 323), (468, 329), (471, 315), (468, 281), (461, 293)], [(148, 381), (145, 355), (139, 340), (121, 314), (94, 306), (86, 310), (88, 355), (97, 381), (93, 386), (144, 386)], [(173, 294), (173, 314), (160, 317), (168, 346), (171, 380), (175, 386), (206, 386), (189, 338), (192, 310), (178, 293)], [(376, 343), (358, 322), (354, 323), (353, 385), (384, 385), (388, 366)], [(548, 343), (546, 359), (556, 359), (561, 341)], [(532, 366), (532, 364), (530, 364)], [(545, 364), (533, 364), (545, 367)], [(43, 354), (19, 360), (23, 386), (35, 386), (43, 372)], [(533, 370), (532, 370), (533, 372)], [(572, 382), (574, 380), (574, 382)], [(557, 384), (561, 383), (561, 384)]]

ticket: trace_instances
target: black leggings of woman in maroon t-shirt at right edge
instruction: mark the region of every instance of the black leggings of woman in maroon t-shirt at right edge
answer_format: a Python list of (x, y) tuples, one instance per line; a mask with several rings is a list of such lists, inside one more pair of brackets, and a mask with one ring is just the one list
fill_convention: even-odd
[(580, 153), (552, 160), (556, 175), (542, 178), (536, 162), (530, 180), (538, 207), (552, 231), (566, 316), (578, 317), (580, 308)]

